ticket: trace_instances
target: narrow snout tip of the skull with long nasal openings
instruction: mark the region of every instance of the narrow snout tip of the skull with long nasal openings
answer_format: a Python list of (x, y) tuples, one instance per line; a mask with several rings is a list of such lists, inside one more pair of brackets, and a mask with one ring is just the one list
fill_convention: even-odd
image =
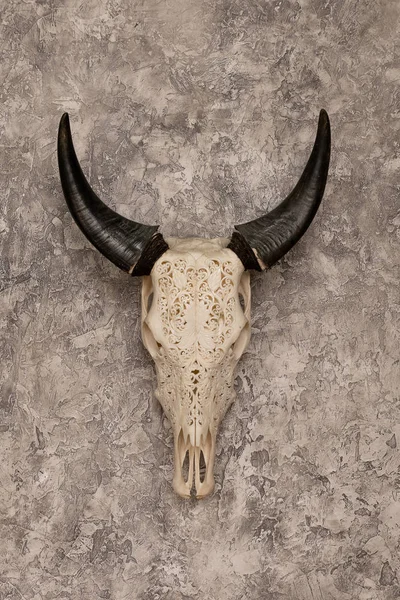
[(205, 498), (214, 490), (215, 437), (208, 431), (194, 445), (182, 429), (174, 437), (175, 464), (173, 486), (183, 498)]

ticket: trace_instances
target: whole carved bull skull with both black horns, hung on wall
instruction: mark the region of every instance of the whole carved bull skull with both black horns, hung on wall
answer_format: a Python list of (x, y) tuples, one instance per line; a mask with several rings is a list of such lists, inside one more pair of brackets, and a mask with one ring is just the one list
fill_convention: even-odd
[(104, 256), (143, 276), (142, 338), (173, 428), (180, 496), (203, 498), (214, 489), (217, 430), (235, 398), (235, 367), (250, 339), (248, 271), (270, 268), (305, 233), (322, 200), (329, 156), (322, 110), (303, 174), (275, 209), (235, 226), (230, 239), (164, 240), (157, 226), (126, 219), (96, 196), (76, 157), (68, 115), (61, 118), (58, 162), (73, 218)]

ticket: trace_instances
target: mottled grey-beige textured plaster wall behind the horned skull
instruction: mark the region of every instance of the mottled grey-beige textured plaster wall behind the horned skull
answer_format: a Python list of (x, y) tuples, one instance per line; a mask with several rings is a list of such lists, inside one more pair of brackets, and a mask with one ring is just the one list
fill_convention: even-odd
[[(1, 5), (0, 598), (400, 597), (398, 3)], [(68, 213), (59, 118), (110, 206), (214, 237), (290, 190), (321, 107), (323, 204), (253, 276), (216, 490), (184, 501), (140, 281)]]

